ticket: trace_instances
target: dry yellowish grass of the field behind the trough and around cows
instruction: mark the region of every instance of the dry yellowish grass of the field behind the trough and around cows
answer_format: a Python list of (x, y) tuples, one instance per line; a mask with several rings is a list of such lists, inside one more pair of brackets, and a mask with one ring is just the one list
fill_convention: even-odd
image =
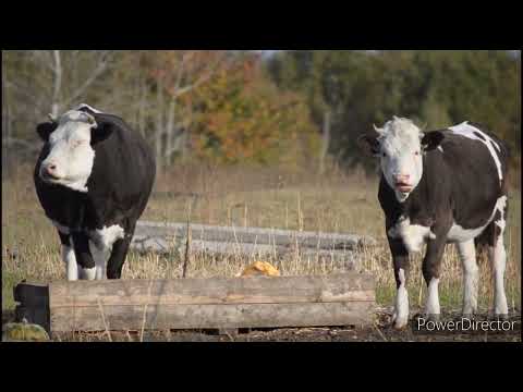
[[(59, 237), (37, 203), (28, 170), (19, 169), (13, 180), (2, 184), (2, 308), (12, 308), (12, 286), (22, 279), (51, 281), (65, 278)], [(377, 279), (378, 303), (391, 306), (396, 283), (390, 253), (377, 200), (377, 181), (361, 172), (344, 175), (331, 172), (315, 176), (285, 174), (278, 170), (179, 168), (158, 179), (155, 197), (143, 219), (194, 223), (236, 224), (373, 235), (377, 247), (364, 249), (364, 268)], [(506, 234), (508, 250), (507, 295), (510, 310), (521, 308), (521, 193), (512, 191)], [(169, 255), (130, 253), (124, 279), (180, 278), (183, 253)], [(252, 261), (240, 255), (192, 257), (187, 277), (232, 277)], [(267, 260), (283, 275), (326, 274), (336, 270), (330, 262), (300, 259)], [(479, 306), (492, 301), (490, 268), (479, 262)], [(440, 283), (442, 307), (461, 307), (461, 266), (449, 245), (443, 258)], [(409, 283), (411, 304), (422, 305), (426, 294), (421, 273), (421, 256), (412, 256)]]

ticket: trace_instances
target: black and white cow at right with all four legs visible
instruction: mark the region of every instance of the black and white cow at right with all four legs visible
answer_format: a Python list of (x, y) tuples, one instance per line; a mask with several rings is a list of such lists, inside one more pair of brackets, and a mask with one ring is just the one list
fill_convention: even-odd
[(423, 275), (428, 286), (425, 311), (440, 314), (438, 284), (447, 243), (455, 243), (463, 267), (463, 314), (477, 307), (478, 268), (475, 240), (489, 249), (495, 279), (495, 307), (507, 317), (503, 275), (507, 219), (508, 149), (484, 127), (464, 122), (447, 130), (422, 132), (412, 121), (399, 119), (360, 138), (381, 166), (379, 203), (397, 282), (396, 328), (409, 319), (406, 281), (409, 253), (426, 243)]

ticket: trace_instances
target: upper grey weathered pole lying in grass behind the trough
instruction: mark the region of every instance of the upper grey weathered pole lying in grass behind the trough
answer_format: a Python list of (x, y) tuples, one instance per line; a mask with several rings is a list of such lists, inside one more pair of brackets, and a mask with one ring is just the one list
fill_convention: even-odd
[[(250, 243), (265, 245), (354, 249), (361, 245), (375, 245), (370, 236), (340, 233), (300, 232), (281, 229), (262, 229), (243, 226), (218, 226), (207, 224), (191, 224), (194, 241)], [(186, 223), (162, 223), (138, 221), (135, 235), (148, 237), (184, 237)]]

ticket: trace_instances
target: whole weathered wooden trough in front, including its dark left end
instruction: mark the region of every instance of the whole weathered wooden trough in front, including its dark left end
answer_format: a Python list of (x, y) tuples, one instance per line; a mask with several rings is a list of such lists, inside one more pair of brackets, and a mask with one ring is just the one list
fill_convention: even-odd
[[(16, 290), (36, 293), (31, 283)], [(19, 301), (34, 308), (36, 319), (29, 322), (48, 322), (50, 332), (345, 326), (372, 322), (375, 281), (370, 274), (354, 272), (62, 281), (50, 283), (45, 295), (38, 295), (38, 301), (31, 294)]]

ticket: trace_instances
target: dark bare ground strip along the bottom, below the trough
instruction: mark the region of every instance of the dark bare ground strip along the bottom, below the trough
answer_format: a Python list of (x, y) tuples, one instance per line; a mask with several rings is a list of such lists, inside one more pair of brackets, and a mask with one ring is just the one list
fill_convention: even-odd
[[(509, 317), (514, 329), (507, 332), (446, 332), (418, 333), (412, 324), (396, 330), (391, 327), (391, 313), (380, 308), (373, 327), (278, 328), (234, 331), (171, 330), (171, 331), (111, 331), (54, 334), (54, 342), (521, 342), (521, 309)], [(12, 313), (2, 314), (2, 323), (12, 321)], [(476, 315), (476, 320), (488, 320), (488, 315)], [(441, 321), (461, 320), (459, 311), (443, 313)]]

